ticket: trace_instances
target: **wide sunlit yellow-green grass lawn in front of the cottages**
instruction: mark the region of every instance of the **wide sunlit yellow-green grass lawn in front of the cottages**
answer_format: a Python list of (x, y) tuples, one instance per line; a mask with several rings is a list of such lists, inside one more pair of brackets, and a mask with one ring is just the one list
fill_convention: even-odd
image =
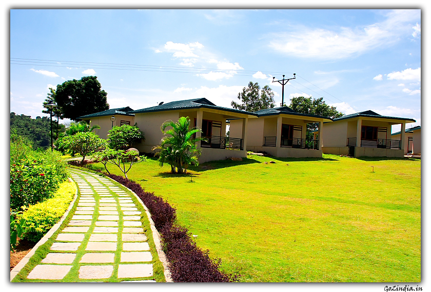
[(128, 176), (241, 282), (421, 281), (420, 160), (253, 155), (192, 167), (193, 182), (169, 172), (150, 158)]

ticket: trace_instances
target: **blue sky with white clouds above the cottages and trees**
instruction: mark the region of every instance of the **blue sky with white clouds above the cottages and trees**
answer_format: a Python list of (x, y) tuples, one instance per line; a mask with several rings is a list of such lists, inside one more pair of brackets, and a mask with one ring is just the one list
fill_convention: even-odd
[[(10, 111), (42, 116), (48, 88), (95, 75), (111, 108), (206, 97), (249, 81), (277, 105), (324, 97), (421, 124), (420, 10), (10, 10)], [(393, 132), (399, 127), (393, 127)]]

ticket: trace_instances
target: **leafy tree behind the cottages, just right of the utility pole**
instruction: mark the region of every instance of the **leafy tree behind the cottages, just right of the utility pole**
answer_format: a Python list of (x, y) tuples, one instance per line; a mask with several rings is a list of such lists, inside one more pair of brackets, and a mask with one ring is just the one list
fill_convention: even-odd
[[(298, 113), (330, 117), (332, 119), (344, 116), (342, 112), (337, 111), (336, 107), (327, 105), (323, 101), (323, 97), (293, 97), (290, 99), (289, 107)], [(307, 123), (307, 138), (311, 138), (312, 134), (310, 131), (314, 131), (317, 128), (318, 123)]]

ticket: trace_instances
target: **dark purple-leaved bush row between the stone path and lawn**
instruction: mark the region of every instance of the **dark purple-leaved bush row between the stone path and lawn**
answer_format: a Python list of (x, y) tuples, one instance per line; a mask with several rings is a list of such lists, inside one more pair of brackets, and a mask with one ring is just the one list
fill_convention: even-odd
[(234, 282), (237, 275), (220, 272), (220, 259), (213, 260), (209, 251), (202, 251), (184, 227), (174, 224), (176, 211), (154, 193), (144, 192), (141, 185), (122, 176), (107, 174), (132, 190), (148, 207), (154, 225), (161, 233), (164, 252), (174, 282)]

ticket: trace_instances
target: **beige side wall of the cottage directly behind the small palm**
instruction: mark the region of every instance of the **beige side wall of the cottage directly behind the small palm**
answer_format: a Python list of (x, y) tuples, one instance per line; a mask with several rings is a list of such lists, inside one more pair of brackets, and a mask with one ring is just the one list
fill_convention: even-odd
[(152, 151), (152, 148), (156, 145), (160, 145), (160, 140), (164, 136), (160, 129), (162, 124), (167, 120), (177, 122), (179, 118), (179, 111), (135, 114), (134, 120), (136, 126), (138, 126), (145, 135), (145, 141), (136, 144), (135, 148), (140, 152), (154, 153), (155, 151)]

